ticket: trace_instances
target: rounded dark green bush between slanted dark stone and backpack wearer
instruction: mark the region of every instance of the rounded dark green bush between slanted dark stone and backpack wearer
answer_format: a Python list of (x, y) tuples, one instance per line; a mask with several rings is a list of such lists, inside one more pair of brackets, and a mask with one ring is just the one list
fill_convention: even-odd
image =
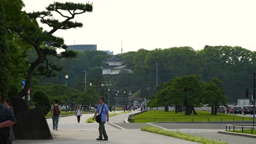
[(42, 91), (36, 91), (32, 95), (32, 100), (36, 108), (42, 108), (44, 115), (46, 115), (51, 108), (51, 103), (48, 95)]

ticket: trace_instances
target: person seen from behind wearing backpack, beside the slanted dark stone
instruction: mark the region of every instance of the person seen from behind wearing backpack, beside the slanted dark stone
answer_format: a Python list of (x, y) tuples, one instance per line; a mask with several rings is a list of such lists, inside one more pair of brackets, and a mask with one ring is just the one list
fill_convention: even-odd
[(53, 129), (58, 130), (59, 125), (59, 115), (61, 113), (61, 107), (58, 104), (59, 100), (55, 99), (54, 104), (51, 105), (51, 117), (53, 118)]

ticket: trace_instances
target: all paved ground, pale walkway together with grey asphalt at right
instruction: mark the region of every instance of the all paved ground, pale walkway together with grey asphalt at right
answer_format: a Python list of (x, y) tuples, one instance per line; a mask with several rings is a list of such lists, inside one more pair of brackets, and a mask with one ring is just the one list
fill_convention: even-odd
[[(116, 111), (116, 113), (122, 111)], [(132, 111), (132, 113), (139, 111)], [(112, 112), (113, 113), (113, 112)], [(176, 139), (164, 135), (148, 133), (139, 130), (140, 127), (155, 125), (156, 127), (166, 128), (167, 130), (181, 131), (191, 135), (203, 136), (207, 139), (227, 141), (228, 143), (255, 143), (254, 138), (225, 135), (217, 133), (224, 130), (225, 124), (188, 124), (188, 123), (124, 123), (131, 113), (125, 113), (109, 118), (109, 122), (105, 124), (109, 141), (96, 141), (98, 136), (98, 123), (86, 123), (86, 120), (94, 114), (84, 114), (80, 123), (77, 123), (75, 116), (61, 117), (59, 130), (52, 129), (52, 120), (47, 119), (51, 134), (54, 140), (16, 140), (13, 143), (195, 143), (185, 140)], [(211, 126), (212, 125), (212, 126)], [(213, 128), (213, 126), (216, 128)], [(223, 125), (223, 126), (222, 126)], [(223, 129), (222, 129), (223, 128)]]

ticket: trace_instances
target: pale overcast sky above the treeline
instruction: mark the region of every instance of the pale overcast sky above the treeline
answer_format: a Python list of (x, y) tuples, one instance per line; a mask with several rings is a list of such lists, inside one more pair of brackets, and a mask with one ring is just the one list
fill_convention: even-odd
[[(25, 10), (42, 11), (53, 2), (24, 0)], [(256, 51), (255, 0), (72, 2), (93, 2), (93, 11), (75, 18), (84, 24), (82, 28), (55, 33), (67, 45), (97, 44), (97, 50), (110, 50), (114, 54), (121, 52), (121, 40), (123, 52), (174, 46), (201, 50), (205, 45), (242, 46)]]

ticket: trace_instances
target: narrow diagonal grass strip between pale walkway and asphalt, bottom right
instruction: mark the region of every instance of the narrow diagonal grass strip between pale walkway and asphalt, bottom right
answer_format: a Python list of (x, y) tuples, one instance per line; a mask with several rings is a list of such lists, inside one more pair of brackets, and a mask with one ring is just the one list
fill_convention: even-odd
[(209, 139), (206, 139), (205, 137), (189, 135), (189, 134), (181, 133), (179, 131), (168, 131), (168, 130), (164, 130), (156, 127), (150, 127), (150, 126), (142, 127), (141, 130), (149, 131), (150, 133), (176, 137), (178, 139), (194, 141), (194, 142), (199, 142), (204, 144), (227, 144), (228, 143), (228, 142), (222, 142), (222, 141), (209, 140)]

